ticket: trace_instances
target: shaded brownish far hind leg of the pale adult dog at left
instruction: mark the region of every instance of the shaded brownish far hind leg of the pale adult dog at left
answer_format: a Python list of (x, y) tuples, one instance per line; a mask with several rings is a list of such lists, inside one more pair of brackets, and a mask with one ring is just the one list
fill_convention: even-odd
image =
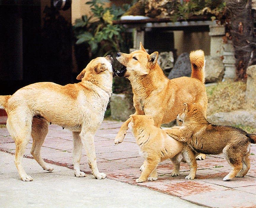
[(34, 159), (44, 170), (53, 171), (53, 167), (44, 162), (41, 157), (41, 146), (44, 143), (44, 139), (48, 133), (48, 122), (45, 119), (38, 119), (36, 117), (32, 120), (31, 136), (33, 138), (33, 144), (31, 148), (31, 154)]

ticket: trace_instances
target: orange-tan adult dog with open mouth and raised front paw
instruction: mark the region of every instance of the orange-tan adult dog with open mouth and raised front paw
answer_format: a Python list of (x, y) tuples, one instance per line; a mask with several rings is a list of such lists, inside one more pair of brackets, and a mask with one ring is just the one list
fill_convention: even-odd
[[(135, 115), (149, 114), (154, 118), (155, 126), (176, 119), (182, 111), (184, 102), (197, 102), (206, 115), (207, 95), (205, 89), (205, 57), (202, 50), (190, 53), (192, 67), (191, 78), (180, 77), (169, 80), (157, 64), (158, 52), (148, 54), (142, 44), (140, 50), (131, 54), (117, 53), (117, 60), (124, 65), (116, 74), (131, 81)], [(121, 126), (115, 144), (121, 143), (126, 135), (128, 123)], [(205, 155), (199, 155), (204, 159)], [(141, 167), (143, 168), (143, 166)]]

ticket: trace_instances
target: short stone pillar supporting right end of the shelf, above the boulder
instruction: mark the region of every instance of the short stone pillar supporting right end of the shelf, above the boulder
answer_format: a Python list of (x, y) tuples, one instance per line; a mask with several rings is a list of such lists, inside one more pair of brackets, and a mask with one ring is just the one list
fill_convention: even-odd
[(210, 56), (220, 57), (223, 55), (223, 40), (222, 37), (225, 35), (225, 27), (223, 25), (209, 25), (211, 37), (210, 45)]

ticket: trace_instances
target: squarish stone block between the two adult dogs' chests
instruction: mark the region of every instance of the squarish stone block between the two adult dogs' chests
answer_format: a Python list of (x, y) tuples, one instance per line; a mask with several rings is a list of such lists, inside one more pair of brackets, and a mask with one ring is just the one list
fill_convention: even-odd
[(132, 100), (125, 94), (112, 94), (110, 102), (111, 117), (115, 120), (125, 121), (129, 115), (135, 113)]

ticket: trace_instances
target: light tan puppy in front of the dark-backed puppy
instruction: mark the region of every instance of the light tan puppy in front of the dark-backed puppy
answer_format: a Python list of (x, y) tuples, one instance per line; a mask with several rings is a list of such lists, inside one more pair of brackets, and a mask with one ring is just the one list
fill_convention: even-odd
[[(179, 154), (189, 165), (190, 173), (186, 179), (194, 179), (197, 171), (195, 155), (188, 146), (168, 136), (164, 130), (154, 126), (153, 117), (150, 115), (131, 115), (129, 128), (132, 130), (136, 143), (139, 145), (142, 157), (146, 164), (137, 183), (145, 180), (157, 180), (157, 165), (166, 159), (171, 159), (174, 165), (172, 176), (180, 175)], [(150, 175), (150, 177), (149, 177)]]

